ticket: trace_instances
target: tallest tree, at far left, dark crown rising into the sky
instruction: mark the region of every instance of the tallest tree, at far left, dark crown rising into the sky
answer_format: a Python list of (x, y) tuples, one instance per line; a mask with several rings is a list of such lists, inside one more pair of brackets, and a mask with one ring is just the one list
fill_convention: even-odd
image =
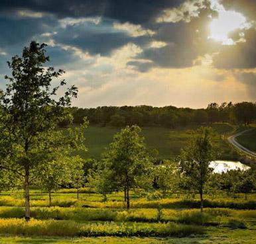
[[(71, 118), (65, 108), (70, 106), (78, 89), (67, 89), (63, 97), (55, 99), (58, 87), (51, 87), (52, 79), (64, 73), (54, 67), (43, 67), (49, 57), (45, 55), (46, 44), (31, 42), (23, 49), (21, 57), (14, 56), (8, 62), (12, 76), (1, 96), (1, 168), (9, 169), (24, 180), (25, 219), (30, 219), (30, 181), (36, 167), (44, 162), (48, 137), (58, 123)], [(64, 80), (60, 86), (65, 85)]]

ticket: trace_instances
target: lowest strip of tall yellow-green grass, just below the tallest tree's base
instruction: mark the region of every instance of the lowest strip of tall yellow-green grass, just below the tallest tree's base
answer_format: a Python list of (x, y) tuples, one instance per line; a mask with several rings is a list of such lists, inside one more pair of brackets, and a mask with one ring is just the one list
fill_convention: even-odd
[(0, 219), (0, 234), (48, 235), (48, 236), (139, 236), (139, 237), (186, 237), (202, 235), (205, 230), (196, 225), (168, 224), (125, 224), (115, 222), (84, 224), (65, 220)]

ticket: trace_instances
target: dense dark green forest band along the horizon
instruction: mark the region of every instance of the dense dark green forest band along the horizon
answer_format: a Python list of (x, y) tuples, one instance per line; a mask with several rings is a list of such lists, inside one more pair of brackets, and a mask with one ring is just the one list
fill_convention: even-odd
[[(256, 102), (211, 103), (207, 108), (176, 108), (175, 106), (99, 106), (97, 108), (73, 107), (74, 124), (81, 124), (87, 117), (90, 124), (100, 126), (163, 126), (175, 128), (188, 124), (229, 122), (251, 124), (256, 120)], [(66, 126), (68, 122), (62, 122)]]

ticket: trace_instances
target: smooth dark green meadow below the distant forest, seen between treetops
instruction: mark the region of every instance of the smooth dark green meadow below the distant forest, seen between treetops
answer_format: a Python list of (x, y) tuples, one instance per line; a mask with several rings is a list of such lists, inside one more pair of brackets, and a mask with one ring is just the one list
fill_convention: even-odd
[[(170, 159), (180, 153), (180, 149), (186, 146), (191, 138), (191, 130), (199, 126), (188, 126), (176, 129), (145, 127), (142, 128), (142, 135), (149, 149), (159, 151), (159, 159)], [(230, 133), (233, 128), (228, 124), (213, 124), (212, 128), (216, 131), (216, 143), (220, 159), (237, 159), (237, 154), (231, 147), (222, 140), (221, 135)], [(84, 157), (95, 157), (99, 159), (101, 153), (112, 141), (113, 134), (119, 132), (117, 128), (89, 126), (85, 130), (86, 146), (88, 152)]]

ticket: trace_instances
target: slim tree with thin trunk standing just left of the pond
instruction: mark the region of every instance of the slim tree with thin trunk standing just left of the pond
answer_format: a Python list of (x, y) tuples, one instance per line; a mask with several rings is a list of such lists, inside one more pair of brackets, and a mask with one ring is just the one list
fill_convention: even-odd
[(215, 159), (214, 144), (212, 143), (212, 128), (200, 127), (196, 132), (190, 145), (182, 149), (180, 155), (180, 169), (185, 177), (188, 177), (200, 193), (200, 208), (203, 212), (204, 185), (212, 169), (210, 162)]

